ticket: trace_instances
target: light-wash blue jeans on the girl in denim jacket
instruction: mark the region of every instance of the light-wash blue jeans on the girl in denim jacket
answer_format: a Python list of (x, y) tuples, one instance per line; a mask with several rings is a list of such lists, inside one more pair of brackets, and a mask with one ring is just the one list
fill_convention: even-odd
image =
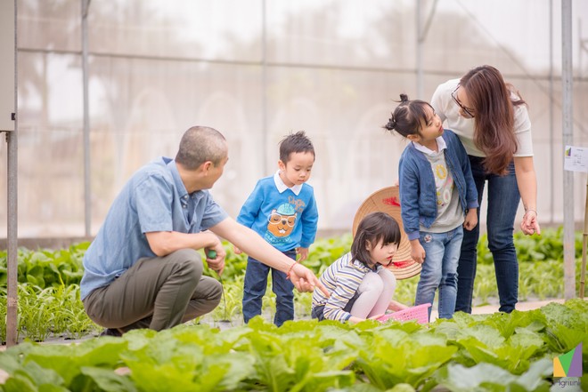
[[(439, 289), (439, 318), (452, 318), (457, 297), (457, 262), (460, 259), (463, 228), (445, 233), (421, 231), (419, 242), (425, 249), (421, 280), (417, 285), (414, 305), (433, 304)], [(429, 319), (431, 308), (429, 308)]]

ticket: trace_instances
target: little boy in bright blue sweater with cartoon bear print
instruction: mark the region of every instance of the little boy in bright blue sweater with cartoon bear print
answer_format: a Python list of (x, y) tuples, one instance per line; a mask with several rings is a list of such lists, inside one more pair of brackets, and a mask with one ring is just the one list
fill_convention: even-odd
[[(306, 260), (314, 243), (318, 211), (313, 188), (306, 184), (314, 164), (313, 143), (305, 132), (291, 133), (280, 142), (279, 170), (258, 180), (237, 221), (252, 228), (277, 250), (298, 262)], [(235, 247), (235, 253), (241, 253)], [(276, 295), (274, 324), (294, 319), (294, 285), (288, 274), (249, 256), (243, 287), (243, 319), (261, 315), (267, 275), (272, 271)]]

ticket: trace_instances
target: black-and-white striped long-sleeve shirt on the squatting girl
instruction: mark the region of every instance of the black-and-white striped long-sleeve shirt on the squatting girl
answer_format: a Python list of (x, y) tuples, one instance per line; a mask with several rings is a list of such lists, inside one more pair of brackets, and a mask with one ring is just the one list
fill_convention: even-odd
[(353, 298), (363, 277), (369, 273), (377, 273), (380, 265), (373, 270), (366, 267), (359, 260), (351, 261), (351, 252), (341, 256), (325, 269), (320, 282), (327, 288), (331, 297), (327, 298), (323, 292), (314, 289), (313, 308), (324, 306), (323, 316), (329, 320), (347, 321), (351, 314), (343, 310), (349, 300)]

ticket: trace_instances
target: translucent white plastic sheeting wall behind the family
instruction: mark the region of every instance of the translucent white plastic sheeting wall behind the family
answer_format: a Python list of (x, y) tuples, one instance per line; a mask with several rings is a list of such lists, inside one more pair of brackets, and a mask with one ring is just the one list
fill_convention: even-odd
[[(417, 97), (412, 1), (92, 2), (93, 233), (131, 173), (155, 156), (173, 156), (194, 124), (230, 141), (230, 163), (212, 192), (233, 216), (255, 181), (276, 169), (283, 135), (305, 130), (317, 153), (310, 182), (319, 228), (349, 230), (363, 199), (397, 178), (404, 140), (381, 128), (393, 100), (400, 92), (429, 100), (437, 84), (480, 64), (501, 69), (527, 100), (540, 221), (560, 224), (561, 4), (486, 3), (438, 0), (421, 48), (424, 96)], [(423, 14), (432, 4), (422, 2)], [(588, 3), (572, 6), (574, 144), (586, 146)], [(79, 0), (19, 3), (20, 237), (85, 233), (80, 7)], [(4, 144), (0, 156), (5, 162)], [(580, 222), (584, 176), (575, 174), (574, 183)], [(1, 221), (5, 214), (0, 209)]]

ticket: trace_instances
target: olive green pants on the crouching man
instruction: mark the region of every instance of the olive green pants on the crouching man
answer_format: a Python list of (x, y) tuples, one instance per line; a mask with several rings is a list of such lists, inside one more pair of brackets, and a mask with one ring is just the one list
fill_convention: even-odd
[(200, 254), (182, 249), (139, 259), (111, 284), (91, 292), (84, 308), (106, 328), (161, 331), (212, 311), (222, 292), (216, 279), (202, 276)]

